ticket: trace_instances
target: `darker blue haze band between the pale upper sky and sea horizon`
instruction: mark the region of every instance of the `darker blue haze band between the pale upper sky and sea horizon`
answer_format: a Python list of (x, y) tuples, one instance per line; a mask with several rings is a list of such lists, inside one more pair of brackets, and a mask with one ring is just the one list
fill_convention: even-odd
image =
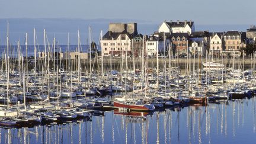
[[(78, 18), (3, 18), (0, 19), (0, 45), (6, 43), (7, 21), (9, 21), (9, 36), (12, 44), (20, 39), (21, 44), (25, 41), (25, 33), (28, 33), (28, 43), (33, 44), (33, 28), (36, 28), (37, 39), (39, 44), (43, 44), (43, 29), (46, 28), (47, 38), (52, 44), (53, 37), (60, 44), (68, 43), (68, 32), (71, 44), (77, 44), (77, 30), (80, 31), (81, 43), (89, 43), (89, 26), (92, 29), (92, 40), (98, 44), (100, 31), (103, 34), (108, 30), (109, 23), (137, 23), (138, 33), (152, 34), (158, 30), (159, 23), (144, 20), (126, 20), (126, 19), (78, 19)], [(196, 23), (196, 21), (195, 21)], [(245, 31), (249, 25), (200, 25), (196, 23), (196, 30), (209, 31), (227, 31), (239, 30)]]

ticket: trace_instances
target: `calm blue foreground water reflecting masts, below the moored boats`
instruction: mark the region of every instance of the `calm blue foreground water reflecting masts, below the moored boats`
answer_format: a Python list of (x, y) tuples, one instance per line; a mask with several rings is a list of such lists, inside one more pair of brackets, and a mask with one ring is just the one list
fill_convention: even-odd
[(255, 143), (255, 100), (170, 108), (147, 116), (109, 111), (91, 121), (0, 129), (0, 143)]

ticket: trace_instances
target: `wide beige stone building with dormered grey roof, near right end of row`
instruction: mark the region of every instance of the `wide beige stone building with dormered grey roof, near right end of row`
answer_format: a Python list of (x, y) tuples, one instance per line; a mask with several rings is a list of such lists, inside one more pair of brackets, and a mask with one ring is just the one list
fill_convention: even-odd
[(246, 33), (239, 31), (227, 31), (223, 35), (224, 46), (226, 51), (239, 50), (245, 47)]

